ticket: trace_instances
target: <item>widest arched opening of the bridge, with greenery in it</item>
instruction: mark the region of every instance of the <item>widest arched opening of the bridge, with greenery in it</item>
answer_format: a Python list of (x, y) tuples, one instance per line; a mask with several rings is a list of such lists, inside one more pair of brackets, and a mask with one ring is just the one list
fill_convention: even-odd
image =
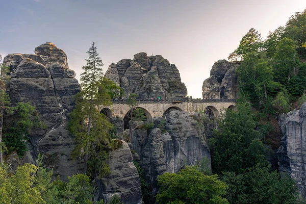
[[(129, 129), (129, 122), (132, 119), (132, 109), (127, 111), (124, 115), (124, 130)], [(149, 123), (152, 120), (151, 114), (144, 108), (135, 107), (133, 108), (133, 121), (143, 121), (144, 123)]]

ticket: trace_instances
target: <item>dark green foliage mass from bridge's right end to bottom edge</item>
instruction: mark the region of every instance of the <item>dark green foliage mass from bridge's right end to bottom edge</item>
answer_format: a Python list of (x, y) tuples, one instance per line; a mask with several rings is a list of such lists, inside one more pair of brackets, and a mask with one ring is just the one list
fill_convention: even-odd
[(225, 197), (230, 203), (296, 203), (295, 182), (269, 167), (259, 140), (266, 130), (257, 127), (250, 104), (239, 101), (237, 110), (226, 110), (210, 139), (212, 169), (228, 184)]

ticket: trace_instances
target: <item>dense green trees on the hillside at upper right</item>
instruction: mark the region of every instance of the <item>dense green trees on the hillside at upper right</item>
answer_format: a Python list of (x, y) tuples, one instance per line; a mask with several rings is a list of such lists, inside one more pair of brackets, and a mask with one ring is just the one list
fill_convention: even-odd
[(295, 108), (291, 103), (306, 89), (305, 27), (306, 10), (291, 16), (285, 27), (270, 32), (265, 40), (252, 28), (228, 57), (242, 60), (237, 68), (239, 92), (254, 108), (270, 114)]

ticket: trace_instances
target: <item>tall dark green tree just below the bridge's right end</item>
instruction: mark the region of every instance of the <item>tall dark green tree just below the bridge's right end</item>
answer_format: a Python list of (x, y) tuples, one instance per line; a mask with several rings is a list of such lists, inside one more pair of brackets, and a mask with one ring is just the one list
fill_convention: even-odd
[(266, 147), (261, 141), (261, 132), (256, 130), (256, 117), (250, 105), (238, 103), (237, 110), (227, 109), (209, 139), (212, 147), (212, 169), (241, 172), (257, 164), (265, 166)]

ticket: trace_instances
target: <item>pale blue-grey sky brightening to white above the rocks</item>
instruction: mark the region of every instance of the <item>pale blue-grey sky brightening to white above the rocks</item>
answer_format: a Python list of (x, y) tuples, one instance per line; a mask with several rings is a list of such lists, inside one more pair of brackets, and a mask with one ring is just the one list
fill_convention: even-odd
[(197, 98), (214, 62), (227, 59), (250, 28), (265, 38), (306, 0), (0, 0), (0, 7), (3, 56), (53, 42), (79, 79), (93, 41), (105, 71), (139, 52), (162, 55)]

